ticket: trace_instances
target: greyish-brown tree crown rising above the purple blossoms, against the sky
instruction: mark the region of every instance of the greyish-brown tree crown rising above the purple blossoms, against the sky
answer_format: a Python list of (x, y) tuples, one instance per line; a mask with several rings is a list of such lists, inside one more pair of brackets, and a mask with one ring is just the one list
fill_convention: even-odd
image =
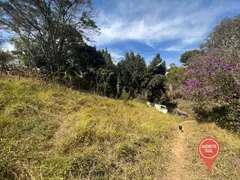
[(206, 52), (222, 52), (233, 58), (240, 57), (240, 14), (225, 18), (217, 25), (200, 48)]

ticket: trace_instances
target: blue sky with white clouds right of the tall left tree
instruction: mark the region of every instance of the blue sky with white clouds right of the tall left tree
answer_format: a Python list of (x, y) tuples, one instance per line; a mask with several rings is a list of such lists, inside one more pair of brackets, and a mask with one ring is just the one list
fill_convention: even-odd
[(187, 50), (196, 49), (223, 18), (240, 13), (240, 0), (93, 0), (99, 36), (93, 45), (116, 61), (126, 51), (147, 63), (160, 53), (167, 65), (180, 65)]

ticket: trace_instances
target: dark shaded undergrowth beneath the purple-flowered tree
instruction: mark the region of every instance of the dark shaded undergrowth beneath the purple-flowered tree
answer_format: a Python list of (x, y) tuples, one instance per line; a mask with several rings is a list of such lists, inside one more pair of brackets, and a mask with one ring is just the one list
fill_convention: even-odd
[(240, 132), (240, 116), (230, 111), (228, 106), (221, 107), (195, 107), (196, 120), (199, 123), (215, 122), (223, 129)]

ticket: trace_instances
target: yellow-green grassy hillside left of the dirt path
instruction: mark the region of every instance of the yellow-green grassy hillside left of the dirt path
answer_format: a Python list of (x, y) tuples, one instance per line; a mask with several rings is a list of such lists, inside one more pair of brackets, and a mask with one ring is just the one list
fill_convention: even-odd
[(33, 80), (0, 80), (0, 179), (153, 179), (181, 119)]

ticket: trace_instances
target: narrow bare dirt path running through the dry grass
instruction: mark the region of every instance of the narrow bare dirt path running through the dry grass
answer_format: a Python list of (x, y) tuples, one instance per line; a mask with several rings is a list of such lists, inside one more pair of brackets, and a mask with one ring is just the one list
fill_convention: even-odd
[(186, 158), (186, 150), (187, 150), (187, 133), (191, 133), (190, 125), (191, 123), (196, 123), (195, 120), (186, 120), (181, 123), (183, 126), (183, 132), (177, 131), (175, 133), (174, 141), (173, 141), (173, 148), (172, 148), (172, 160), (170, 162), (169, 172), (166, 175), (164, 180), (183, 180), (184, 175), (184, 165), (185, 158)]

